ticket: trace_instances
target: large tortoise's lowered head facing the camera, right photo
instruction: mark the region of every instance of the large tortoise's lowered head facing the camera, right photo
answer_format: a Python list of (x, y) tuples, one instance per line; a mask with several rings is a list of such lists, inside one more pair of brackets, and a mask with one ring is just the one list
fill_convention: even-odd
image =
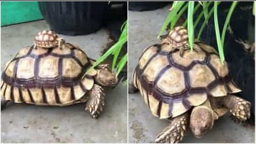
[(211, 130), (213, 122), (213, 112), (204, 106), (195, 107), (190, 115), (190, 129), (196, 138), (201, 138)]

